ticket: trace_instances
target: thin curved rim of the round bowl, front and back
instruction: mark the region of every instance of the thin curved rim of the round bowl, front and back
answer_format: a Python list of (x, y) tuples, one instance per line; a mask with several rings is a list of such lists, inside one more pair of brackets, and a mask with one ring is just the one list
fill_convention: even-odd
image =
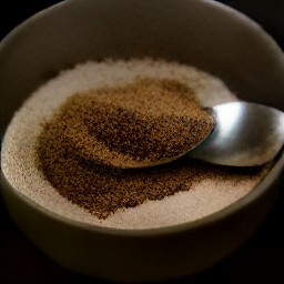
[[(257, 32), (257, 36), (262, 38), (266, 43), (267, 48), (272, 49), (273, 52), (276, 54), (283, 54), (282, 49), (276, 43), (276, 41), (272, 38), (271, 34), (268, 34), (258, 23), (256, 23), (254, 20), (245, 16), (244, 13), (225, 6), (221, 2), (212, 1), (212, 0), (186, 0), (186, 1), (195, 1), (201, 4), (207, 4), (211, 6), (214, 9), (219, 9), (219, 11), (224, 13), (231, 13), (235, 19), (242, 21), (243, 24), (246, 24), (250, 27), (250, 29), (254, 29)], [(24, 29), (28, 24), (32, 23), (33, 21), (37, 21), (38, 18), (48, 14), (49, 12), (52, 12), (55, 9), (61, 9), (63, 6), (69, 6), (75, 2), (75, 0), (65, 0), (61, 1), (59, 3), (52, 4), (33, 16), (26, 19), (23, 22), (19, 23), (17, 27), (14, 27), (4, 38), (0, 41), (0, 52), (4, 48), (6, 42), (12, 41), (13, 37), (19, 33), (22, 29)], [(284, 57), (283, 57), (284, 59)], [(283, 60), (284, 62), (284, 60)], [(7, 126), (7, 125), (6, 125)], [(4, 140), (4, 139), (3, 139)], [(2, 142), (3, 142), (2, 140)], [(2, 145), (1, 145), (2, 148)], [(53, 219), (58, 222), (65, 223), (70, 226), (80, 229), (80, 230), (87, 230), (92, 231), (93, 233), (98, 232), (101, 234), (108, 234), (108, 235), (116, 235), (116, 236), (140, 236), (140, 237), (149, 237), (149, 236), (160, 236), (160, 235), (169, 235), (169, 234), (175, 234), (175, 233), (182, 233), (190, 230), (197, 230), (200, 227), (214, 224), (215, 222), (225, 220), (227, 216), (234, 214), (235, 212), (245, 209), (250, 206), (255, 200), (257, 200), (261, 195), (263, 195), (270, 187), (273, 185), (275, 180), (281, 175), (283, 169), (284, 169), (284, 149), (281, 150), (278, 154), (278, 159), (273, 165), (273, 168), (268, 171), (268, 173), (263, 178), (263, 180), (254, 186), (254, 189), (242, 196), (241, 199), (236, 200), (235, 202), (231, 203), (230, 205), (225, 206), (224, 209), (219, 210), (217, 212), (214, 212), (212, 214), (205, 215), (201, 219), (183, 222), (175, 225), (169, 225), (169, 226), (162, 226), (162, 227), (150, 227), (150, 229), (118, 229), (118, 227), (106, 227), (106, 226), (99, 226), (90, 223), (85, 223), (82, 221), (73, 220), (70, 217), (67, 217), (64, 215), (61, 215), (59, 213), (55, 213), (43, 205), (38, 204), (32, 199), (28, 197), (21, 191), (17, 190), (13, 185), (10, 184), (8, 179), (4, 176), (4, 173), (1, 169), (0, 171), (0, 179), (1, 179), (1, 187), (8, 189), (12, 194), (14, 194), (21, 202), (26, 203), (28, 206), (30, 206), (33, 211), (39, 211), (41, 214)], [(1, 189), (2, 191), (2, 189)], [(0, 191), (0, 193), (1, 193)], [(6, 201), (6, 200), (4, 200)]]

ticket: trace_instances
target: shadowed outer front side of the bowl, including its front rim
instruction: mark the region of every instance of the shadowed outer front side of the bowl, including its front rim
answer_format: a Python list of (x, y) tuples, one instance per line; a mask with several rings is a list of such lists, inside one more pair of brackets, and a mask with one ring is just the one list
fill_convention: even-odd
[[(276, 172), (271, 174), (280, 176)], [(82, 224), (31, 202), (11, 190), (3, 176), (1, 186), (11, 217), (57, 263), (104, 280), (148, 282), (194, 274), (243, 244), (275, 201), (280, 179), (267, 178), (261, 193), (248, 194), (248, 199), (209, 217), (153, 230), (112, 230)]]

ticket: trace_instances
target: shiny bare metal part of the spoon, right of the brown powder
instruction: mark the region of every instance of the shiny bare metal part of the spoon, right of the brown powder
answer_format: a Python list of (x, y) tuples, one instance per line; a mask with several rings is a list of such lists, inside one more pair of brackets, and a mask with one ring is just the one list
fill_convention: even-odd
[(273, 160), (284, 144), (284, 113), (280, 110), (231, 102), (211, 111), (214, 130), (184, 154), (215, 164), (253, 166)]

